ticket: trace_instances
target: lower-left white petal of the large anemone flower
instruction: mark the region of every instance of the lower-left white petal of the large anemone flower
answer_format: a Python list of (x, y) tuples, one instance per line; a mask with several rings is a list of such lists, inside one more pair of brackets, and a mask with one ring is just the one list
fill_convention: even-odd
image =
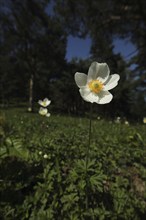
[(82, 98), (86, 101), (86, 102), (96, 102), (98, 103), (99, 97), (98, 95), (96, 95), (95, 93), (91, 92), (87, 87), (85, 88), (81, 88), (80, 90), (80, 94), (82, 96)]

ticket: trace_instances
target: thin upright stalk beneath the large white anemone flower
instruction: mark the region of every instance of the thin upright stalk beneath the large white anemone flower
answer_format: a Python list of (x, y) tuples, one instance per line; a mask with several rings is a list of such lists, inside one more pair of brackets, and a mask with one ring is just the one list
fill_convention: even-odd
[(86, 210), (89, 207), (89, 198), (88, 198), (88, 187), (89, 187), (89, 176), (88, 176), (88, 162), (90, 159), (90, 143), (91, 143), (91, 125), (92, 125), (92, 104), (90, 105), (89, 113), (89, 140), (86, 147)]

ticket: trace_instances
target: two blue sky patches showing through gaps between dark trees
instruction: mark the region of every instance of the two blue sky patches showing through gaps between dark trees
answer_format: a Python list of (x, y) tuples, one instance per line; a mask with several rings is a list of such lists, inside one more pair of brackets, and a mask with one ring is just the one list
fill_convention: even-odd
[[(82, 58), (86, 59), (90, 56), (90, 46), (91, 46), (91, 39), (80, 39), (78, 37), (68, 37), (67, 43), (67, 53), (66, 59), (70, 61), (72, 58)], [(130, 54), (136, 50), (135, 46), (126, 40), (122, 39), (115, 39), (114, 40), (114, 52), (121, 53), (122, 56), (128, 60), (130, 59)]]

